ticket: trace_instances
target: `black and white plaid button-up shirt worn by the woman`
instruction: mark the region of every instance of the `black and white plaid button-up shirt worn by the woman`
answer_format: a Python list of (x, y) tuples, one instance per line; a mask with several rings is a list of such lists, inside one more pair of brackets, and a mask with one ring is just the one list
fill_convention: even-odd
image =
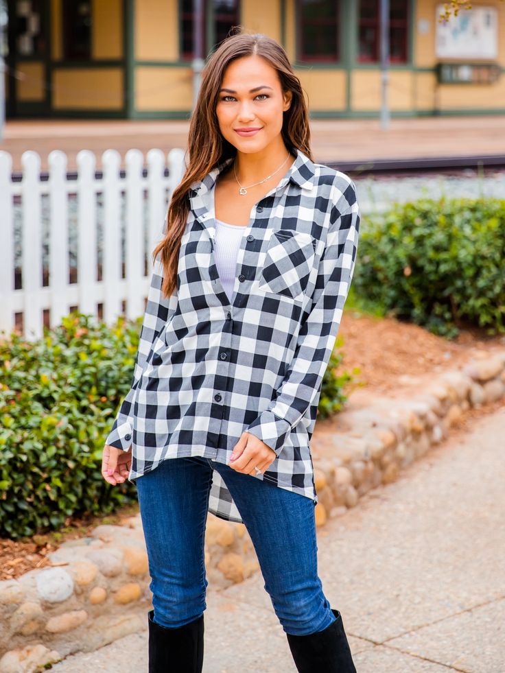
[[(298, 150), (244, 226), (230, 302), (213, 254), (213, 187), (230, 161), (191, 185), (169, 298), (161, 293), (161, 262), (154, 263), (132, 387), (106, 443), (132, 446), (134, 480), (167, 458), (229, 464), (250, 432), (277, 453), (257, 478), (316, 504), (309, 442), (353, 276), (355, 185)], [(209, 511), (242, 522), (215, 470)]]

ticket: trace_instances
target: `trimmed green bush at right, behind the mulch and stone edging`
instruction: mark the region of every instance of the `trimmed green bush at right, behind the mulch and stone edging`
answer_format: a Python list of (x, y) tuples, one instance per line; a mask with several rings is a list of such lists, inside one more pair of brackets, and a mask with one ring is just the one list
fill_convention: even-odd
[(422, 199), (366, 221), (353, 279), (388, 314), (452, 338), (505, 331), (505, 200)]

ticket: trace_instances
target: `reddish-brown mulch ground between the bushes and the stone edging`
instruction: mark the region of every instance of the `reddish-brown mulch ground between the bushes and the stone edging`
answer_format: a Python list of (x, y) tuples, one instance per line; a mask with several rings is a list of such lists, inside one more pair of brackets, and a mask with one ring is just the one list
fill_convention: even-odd
[[(352, 309), (344, 311), (339, 335), (343, 338), (340, 350), (344, 359), (338, 370), (360, 370), (347, 392), (360, 382), (360, 388), (369, 392), (394, 395), (401, 392), (406, 376), (458, 368), (475, 349), (489, 351), (505, 346), (505, 335), (490, 337), (477, 329), (462, 330), (456, 340), (448, 341), (422, 327), (394, 318), (373, 318)], [(465, 414), (462, 429), (472, 418), (489, 413), (499, 405), (503, 405), (503, 401), (470, 410)], [(30, 569), (50, 565), (47, 554), (63, 541), (88, 534), (98, 523), (120, 523), (135, 512), (136, 505), (113, 516), (69, 519), (67, 528), (57, 533), (36, 535), (23, 541), (0, 539), (0, 580), (16, 578)]]

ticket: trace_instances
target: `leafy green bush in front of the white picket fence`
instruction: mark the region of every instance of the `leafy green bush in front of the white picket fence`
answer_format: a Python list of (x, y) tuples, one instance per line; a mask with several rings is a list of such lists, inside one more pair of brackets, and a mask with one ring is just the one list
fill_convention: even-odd
[(136, 500), (101, 474), (104, 439), (131, 385), (140, 321), (71, 314), (36, 342), (0, 344), (0, 536), (16, 539)]

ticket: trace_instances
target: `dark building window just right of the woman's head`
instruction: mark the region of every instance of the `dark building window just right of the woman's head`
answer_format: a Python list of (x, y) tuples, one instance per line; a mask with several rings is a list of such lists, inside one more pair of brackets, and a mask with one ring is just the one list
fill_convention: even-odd
[(339, 60), (339, 18), (339, 0), (298, 0), (298, 60)]

